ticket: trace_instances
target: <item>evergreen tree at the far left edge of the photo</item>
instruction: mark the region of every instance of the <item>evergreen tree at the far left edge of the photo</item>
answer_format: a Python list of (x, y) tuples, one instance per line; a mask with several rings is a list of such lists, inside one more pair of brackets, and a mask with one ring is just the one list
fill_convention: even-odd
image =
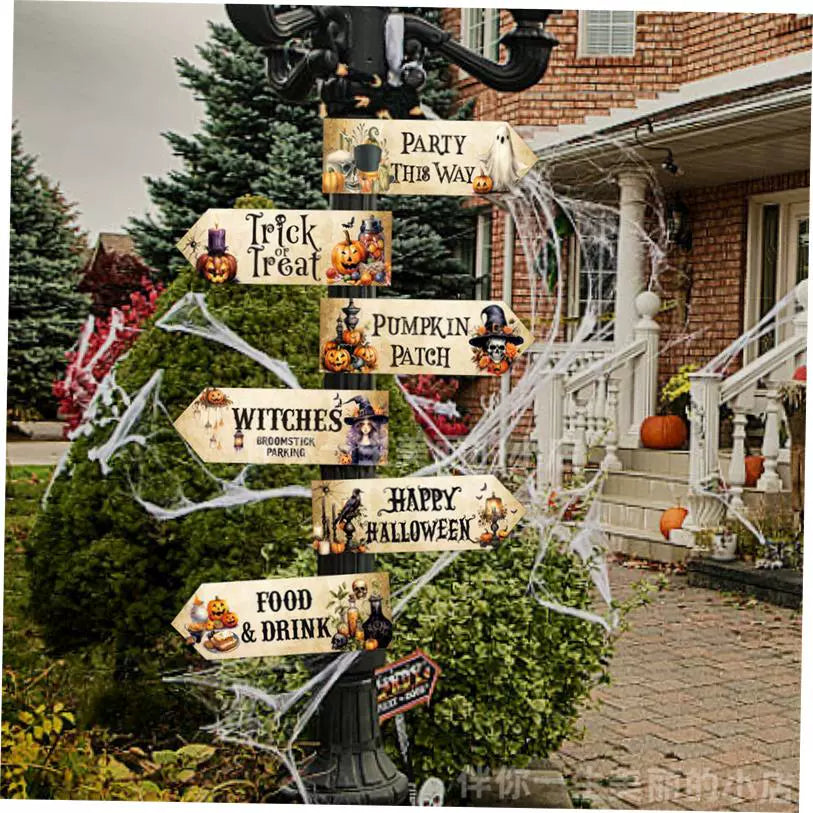
[(8, 410), (14, 417), (53, 416), (51, 384), (87, 314), (77, 290), (87, 248), (76, 212), (59, 187), (37, 172), (14, 125), (11, 136)]

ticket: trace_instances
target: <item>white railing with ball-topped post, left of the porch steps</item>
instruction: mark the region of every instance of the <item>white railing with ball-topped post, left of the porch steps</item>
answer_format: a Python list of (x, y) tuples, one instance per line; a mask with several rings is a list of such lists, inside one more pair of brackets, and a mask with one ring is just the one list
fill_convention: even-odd
[[(534, 405), (540, 487), (561, 484), (566, 452), (570, 452), (573, 471), (579, 472), (587, 464), (589, 448), (603, 443), (602, 466), (619, 470), (619, 445), (637, 445), (641, 421), (653, 414), (657, 399), (660, 328), (653, 317), (660, 298), (644, 291), (636, 298), (635, 308), (638, 321), (633, 341), (624, 347), (582, 342), (544, 350), (550, 385), (542, 389)], [(622, 386), (631, 388), (631, 398), (619, 398)], [(635, 439), (634, 444), (630, 438)]]

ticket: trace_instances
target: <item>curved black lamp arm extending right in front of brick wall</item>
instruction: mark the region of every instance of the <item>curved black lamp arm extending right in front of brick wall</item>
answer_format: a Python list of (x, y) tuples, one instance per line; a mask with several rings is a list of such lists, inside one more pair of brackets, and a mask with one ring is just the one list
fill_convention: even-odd
[(418, 40), (435, 53), (459, 65), (484, 85), (499, 91), (520, 91), (535, 85), (545, 74), (551, 50), (558, 45), (545, 31), (551, 10), (514, 9), (517, 23), (500, 43), (508, 51), (504, 63), (487, 59), (452, 39), (448, 31), (413, 14), (404, 15), (404, 36)]

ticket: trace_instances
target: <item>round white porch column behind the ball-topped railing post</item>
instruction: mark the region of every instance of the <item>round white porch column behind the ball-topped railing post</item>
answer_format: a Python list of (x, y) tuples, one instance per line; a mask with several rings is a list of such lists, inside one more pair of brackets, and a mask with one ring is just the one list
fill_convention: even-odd
[[(644, 208), (646, 203), (646, 176), (637, 170), (618, 175), (618, 250), (615, 280), (615, 348), (623, 348), (634, 339), (638, 312), (635, 299), (645, 287), (644, 273)], [(619, 440), (622, 446), (638, 446), (637, 437), (630, 433), (633, 423), (634, 402), (632, 365), (625, 365), (617, 373)]]

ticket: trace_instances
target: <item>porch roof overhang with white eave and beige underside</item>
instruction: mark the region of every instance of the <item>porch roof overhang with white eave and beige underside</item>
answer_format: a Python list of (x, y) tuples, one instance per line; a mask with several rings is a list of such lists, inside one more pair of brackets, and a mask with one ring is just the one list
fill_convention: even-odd
[[(810, 167), (810, 74), (794, 81), (749, 88), (702, 103), (660, 109), (620, 126), (595, 129), (571, 141), (539, 150), (555, 181), (607, 185), (621, 169), (646, 162), (664, 189), (718, 186)], [(642, 149), (635, 128), (651, 147), (668, 147), (679, 175), (661, 168), (666, 153)]]

